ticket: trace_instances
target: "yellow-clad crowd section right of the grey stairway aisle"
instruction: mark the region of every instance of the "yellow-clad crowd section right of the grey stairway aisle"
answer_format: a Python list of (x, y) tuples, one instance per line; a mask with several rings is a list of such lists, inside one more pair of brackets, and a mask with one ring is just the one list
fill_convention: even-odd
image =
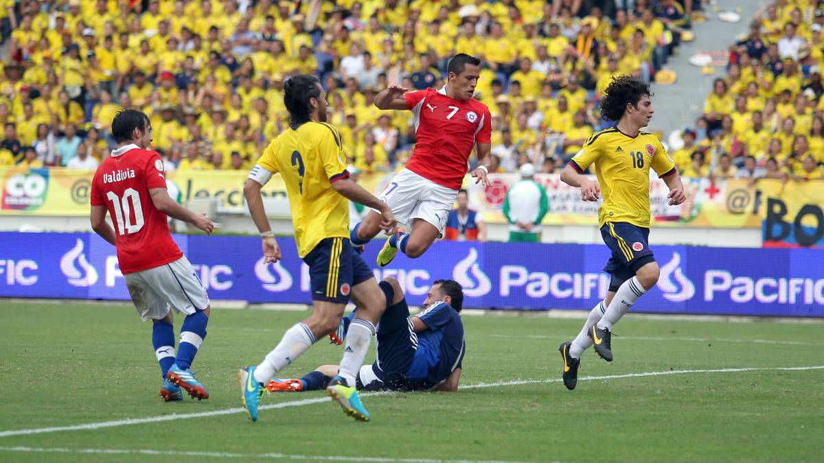
[(824, 178), (824, 2), (770, 2), (729, 47), (727, 76), (672, 153), (681, 175)]

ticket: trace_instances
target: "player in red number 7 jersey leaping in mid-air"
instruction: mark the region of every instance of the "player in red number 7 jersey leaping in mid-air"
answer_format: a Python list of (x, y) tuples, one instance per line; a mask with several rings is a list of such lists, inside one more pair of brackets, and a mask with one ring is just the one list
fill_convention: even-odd
[[(406, 166), (381, 194), (399, 223), (412, 229), (386, 240), (377, 264), (389, 264), (398, 250), (419, 257), (442, 236), (447, 216), (466, 175), (472, 148), (480, 159), (472, 171), (475, 183), (489, 185), (486, 178), (490, 157), (491, 119), (489, 108), (475, 100), (480, 59), (456, 54), (447, 67), (447, 85), (408, 91), (393, 85), (380, 92), (375, 105), (382, 110), (410, 110), (414, 115), (417, 143)], [(363, 246), (381, 231), (381, 214), (372, 210), (350, 236), (354, 246)]]

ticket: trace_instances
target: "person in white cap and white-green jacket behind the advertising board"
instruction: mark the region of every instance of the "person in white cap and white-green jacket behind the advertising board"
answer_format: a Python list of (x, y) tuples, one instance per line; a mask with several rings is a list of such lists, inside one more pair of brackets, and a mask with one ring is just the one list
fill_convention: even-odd
[(530, 163), (519, 169), (521, 180), (507, 192), (503, 215), (509, 221), (509, 241), (541, 241), (541, 221), (549, 206), (546, 190), (534, 179), (536, 168)]

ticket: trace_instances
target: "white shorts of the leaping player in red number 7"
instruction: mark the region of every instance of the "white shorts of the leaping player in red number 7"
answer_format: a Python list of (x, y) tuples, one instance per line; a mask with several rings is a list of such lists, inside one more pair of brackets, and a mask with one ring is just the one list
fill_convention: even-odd
[(398, 223), (409, 227), (413, 219), (421, 218), (438, 228), (442, 235), (457, 196), (458, 190), (438, 185), (404, 168), (386, 185), (378, 199), (389, 206)]

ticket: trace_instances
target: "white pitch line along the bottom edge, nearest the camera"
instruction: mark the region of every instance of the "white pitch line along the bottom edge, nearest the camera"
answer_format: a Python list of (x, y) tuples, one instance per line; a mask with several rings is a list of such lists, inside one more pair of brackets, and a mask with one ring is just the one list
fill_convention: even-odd
[[(377, 463), (463, 463), (473, 460), (429, 460), (425, 458), (386, 458), (380, 456), (325, 456), (289, 455), (285, 453), (234, 453), (228, 451), (174, 451), (152, 449), (105, 449), (105, 448), (44, 448), (44, 447), (0, 447), (0, 451), (23, 451), (42, 453), (64, 453), (75, 455), (146, 455), (146, 456), (198, 456), (212, 458), (246, 458), (256, 460), (297, 460), (297, 461), (373, 461)], [(508, 463), (489, 461), (489, 463)]]

